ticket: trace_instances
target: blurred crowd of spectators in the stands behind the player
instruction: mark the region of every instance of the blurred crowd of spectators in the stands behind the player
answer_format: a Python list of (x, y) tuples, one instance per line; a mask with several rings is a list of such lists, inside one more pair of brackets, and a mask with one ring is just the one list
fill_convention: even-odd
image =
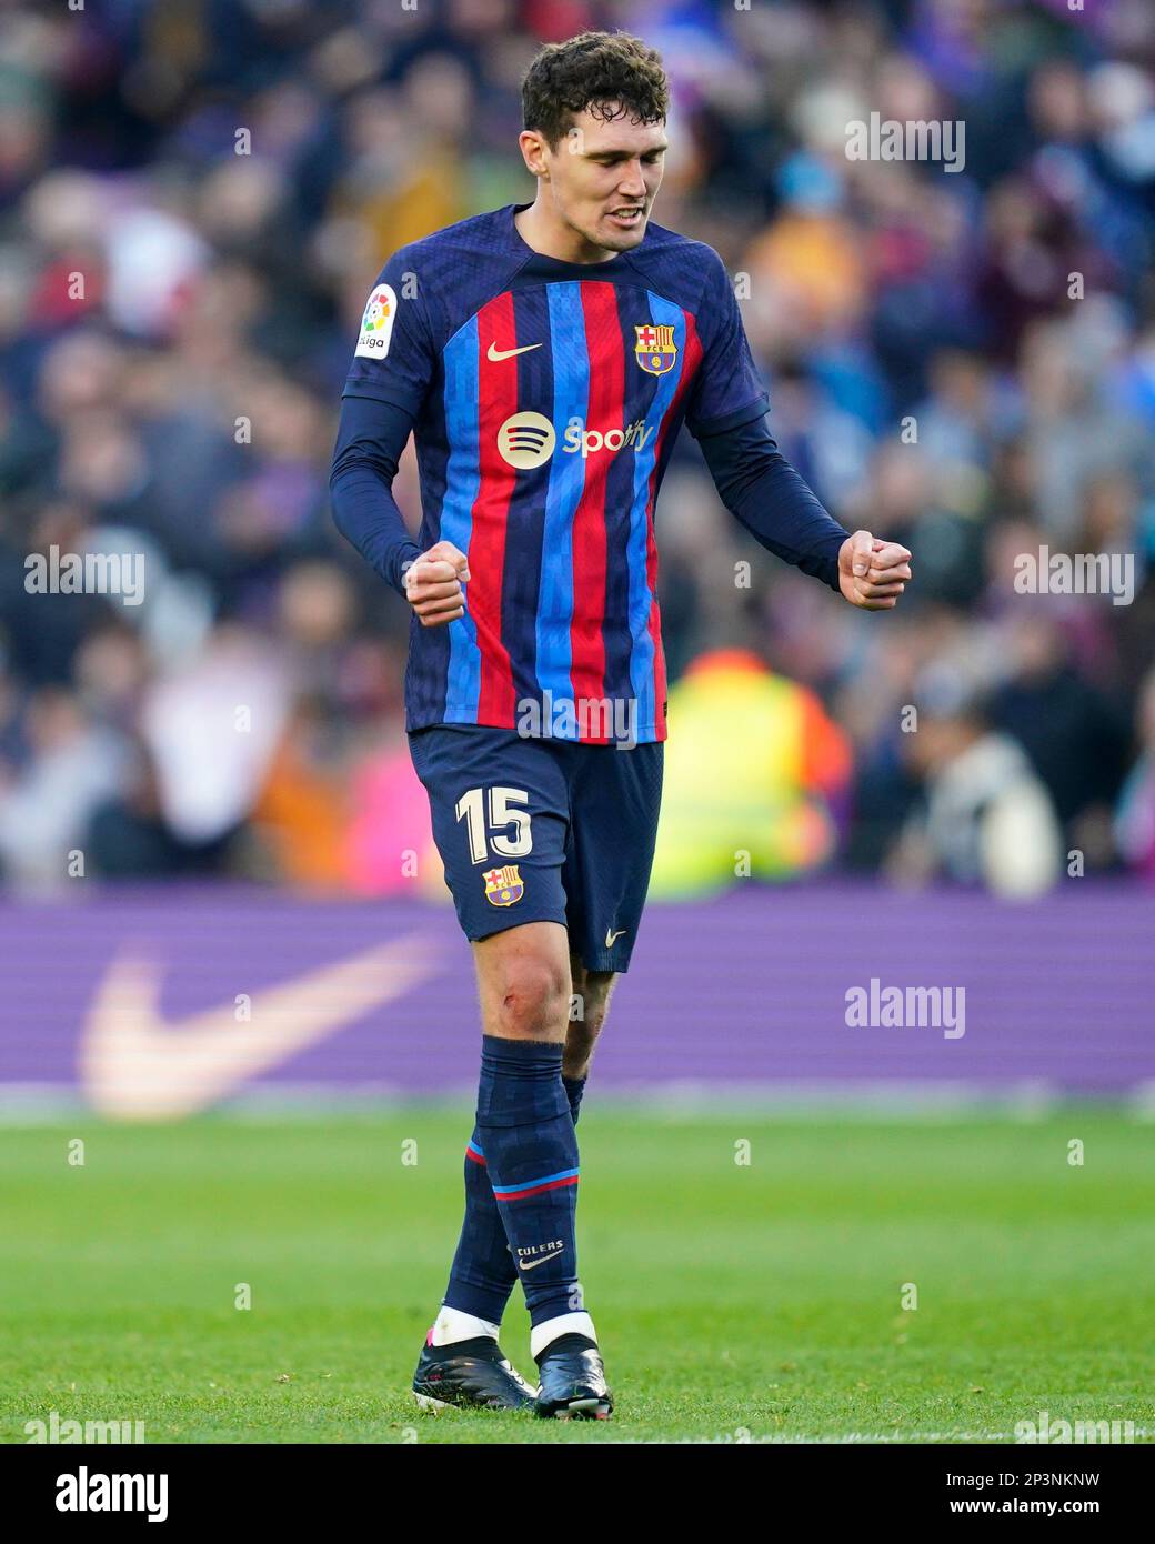
[[(5, 883), (423, 883), (408, 611), (329, 514), (340, 391), (384, 258), (533, 198), (520, 74), (594, 26), (664, 56), (655, 218), (735, 276), (780, 448), (914, 553), (896, 613), (854, 611), (682, 435), (670, 752), (727, 650), (837, 746), (795, 789), (831, 838), (775, 875), (1155, 879), (1149, 0), (103, 0), (0, 3)], [(965, 165), (848, 159), (876, 111), (962, 120)], [(54, 548), (137, 554), (139, 604), (29, 593)], [(1044, 548), (1129, 556), (1126, 604), (1024, 593)], [(778, 721), (735, 709), (733, 753)]]

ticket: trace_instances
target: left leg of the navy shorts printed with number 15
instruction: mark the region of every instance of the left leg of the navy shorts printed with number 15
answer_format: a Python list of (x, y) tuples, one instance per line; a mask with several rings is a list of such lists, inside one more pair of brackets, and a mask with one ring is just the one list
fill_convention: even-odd
[(411, 733), (409, 753), (466, 939), (565, 926), (568, 791), (550, 747), (503, 729), (437, 726)]

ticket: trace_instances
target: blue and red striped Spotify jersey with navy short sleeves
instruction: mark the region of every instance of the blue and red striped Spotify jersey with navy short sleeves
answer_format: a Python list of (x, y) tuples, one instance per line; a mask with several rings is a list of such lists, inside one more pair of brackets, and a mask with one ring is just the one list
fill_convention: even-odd
[(682, 422), (767, 398), (721, 258), (650, 224), (596, 264), (533, 252), (506, 205), (398, 250), (344, 395), (414, 417), (422, 551), (469, 559), (465, 616), (411, 619), (406, 729), (666, 738), (655, 500)]

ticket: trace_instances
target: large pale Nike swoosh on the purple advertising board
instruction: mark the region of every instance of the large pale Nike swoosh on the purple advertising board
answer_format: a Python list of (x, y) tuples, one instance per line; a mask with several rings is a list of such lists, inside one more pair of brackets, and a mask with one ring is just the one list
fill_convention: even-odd
[(168, 1022), (159, 1010), (164, 968), (122, 954), (105, 971), (80, 1033), (80, 1085), (96, 1110), (119, 1119), (190, 1115), (403, 996), (432, 974), (434, 962), (428, 940), (412, 933), (253, 991), (249, 1022), (236, 1022), (232, 997)]

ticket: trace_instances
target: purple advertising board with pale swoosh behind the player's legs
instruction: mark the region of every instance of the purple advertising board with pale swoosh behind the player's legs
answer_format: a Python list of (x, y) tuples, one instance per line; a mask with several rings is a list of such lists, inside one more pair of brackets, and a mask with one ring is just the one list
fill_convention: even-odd
[[(1072, 882), (1016, 905), (815, 882), (652, 905), (596, 1059), (624, 1095), (957, 1098), (1155, 1087), (1155, 897)], [(114, 1118), (238, 1096), (474, 1085), (477, 1001), (448, 906), (249, 886), (0, 902), (0, 1095)]]

